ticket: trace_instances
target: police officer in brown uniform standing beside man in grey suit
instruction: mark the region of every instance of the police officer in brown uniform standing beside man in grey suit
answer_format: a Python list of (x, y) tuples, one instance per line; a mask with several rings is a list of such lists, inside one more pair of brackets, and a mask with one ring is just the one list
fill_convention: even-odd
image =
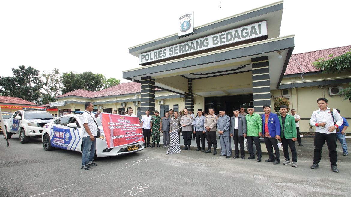
[(211, 147), (213, 144), (213, 155), (217, 154), (217, 139), (216, 139), (216, 133), (217, 133), (217, 120), (218, 117), (214, 115), (214, 109), (213, 107), (210, 107), (208, 109), (208, 112), (210, 113), (209, 115), (206, 116), (205, 119), (205, 129), (206, 129), (206, 138), (207, 138), (207, 147), (208, 150), (205, 151), (205, 153), (210, 153), (211, 152)]

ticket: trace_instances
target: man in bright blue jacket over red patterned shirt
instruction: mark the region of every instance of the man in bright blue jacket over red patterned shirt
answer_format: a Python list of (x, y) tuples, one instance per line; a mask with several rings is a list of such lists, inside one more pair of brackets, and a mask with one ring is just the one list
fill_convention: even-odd
[[(280, 122), (278, 115), (275, 113), (271, 113), (271, 106), (264, 105), (263, 111), (265, 114), (262, 115), (262, 124), (263, 124), (263, 132), (264, 141), (266, 143), (266, 148), (268, 151), (269, 159), (265, 160), (265, 162), (273, 162), (272, 164), (279, 164), (279, 147), (278, 140), (280, 140)], [(273, 146), (273, 147), (272, 147)], [(276, 152), (276, 157), (273, 155)]]

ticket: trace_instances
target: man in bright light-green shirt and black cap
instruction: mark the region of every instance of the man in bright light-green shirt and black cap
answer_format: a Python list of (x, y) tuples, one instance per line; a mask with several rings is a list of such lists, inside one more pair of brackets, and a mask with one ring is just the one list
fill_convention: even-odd
[(262, 121), (261, 116), (257, 113), (254, 113), (255, 109), (253, 106), (247, 107), (247, 114), (245, 116), (247, 123), (247, 131), (244, 133), (244, 137), (247, 137), (247, 143), (249, 145), (249, 153), (250, 157), (247, 159), (254, 159), (255, 153), (252, 150), (252, 142), (255, 142), (256, 150), (257, 150), (257, 161), (261, 161), (262, 152), (261, 152), (261, 143), (260, 137), (262, 136)]

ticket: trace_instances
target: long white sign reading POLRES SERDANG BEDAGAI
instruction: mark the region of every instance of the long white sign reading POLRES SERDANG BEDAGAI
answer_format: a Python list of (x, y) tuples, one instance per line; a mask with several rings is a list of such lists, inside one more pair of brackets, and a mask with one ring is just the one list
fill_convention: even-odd
[(178, 45), (161, 48), (159, 50), (139, 54), (139, 64), (145, 64), (160, 59), (205, 50), (208, 48), (257, 38), (264, 35), (267, 35), (267, 21), (246, 25), (243, 27), (232, 29), (230, 31), (210, 35), (205, 38), (200, 38), (197, 40), (184, 42)]

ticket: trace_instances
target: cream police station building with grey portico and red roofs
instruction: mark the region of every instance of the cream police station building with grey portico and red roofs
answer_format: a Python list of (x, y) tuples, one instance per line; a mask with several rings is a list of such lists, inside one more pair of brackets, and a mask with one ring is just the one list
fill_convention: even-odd
[(141, 65), (123, 72), (131, 82), (97, 92), (69, 92), (52, 105), (58, 116), (84, 110), (85, 101), (109, 113), (124, 114), (132, 107), (139, 117), (147, 109), (164, 116), (169, 109), (185, 107), (205, 112), (214, 107), (217, 113), (225, 109), (232, 116), (233, 107), (246, 111), (249, 105), (263, 114), (264, 104), (273, 106), (274, 98), (284, 97), (301, 117), (300, 130), (308, 132), (317, 99), (324, 97), (350, 119), (351, 104), (338, 91), (349, 87), (351, 73), (323, 74), (311, 63), (344, 54), (351, 46), (292, 54), (294, 36), (279, 37), (282, 14), (280, 1), (196, 28), (193, 13), (184, 14), (179, 34), (129, 48)]

